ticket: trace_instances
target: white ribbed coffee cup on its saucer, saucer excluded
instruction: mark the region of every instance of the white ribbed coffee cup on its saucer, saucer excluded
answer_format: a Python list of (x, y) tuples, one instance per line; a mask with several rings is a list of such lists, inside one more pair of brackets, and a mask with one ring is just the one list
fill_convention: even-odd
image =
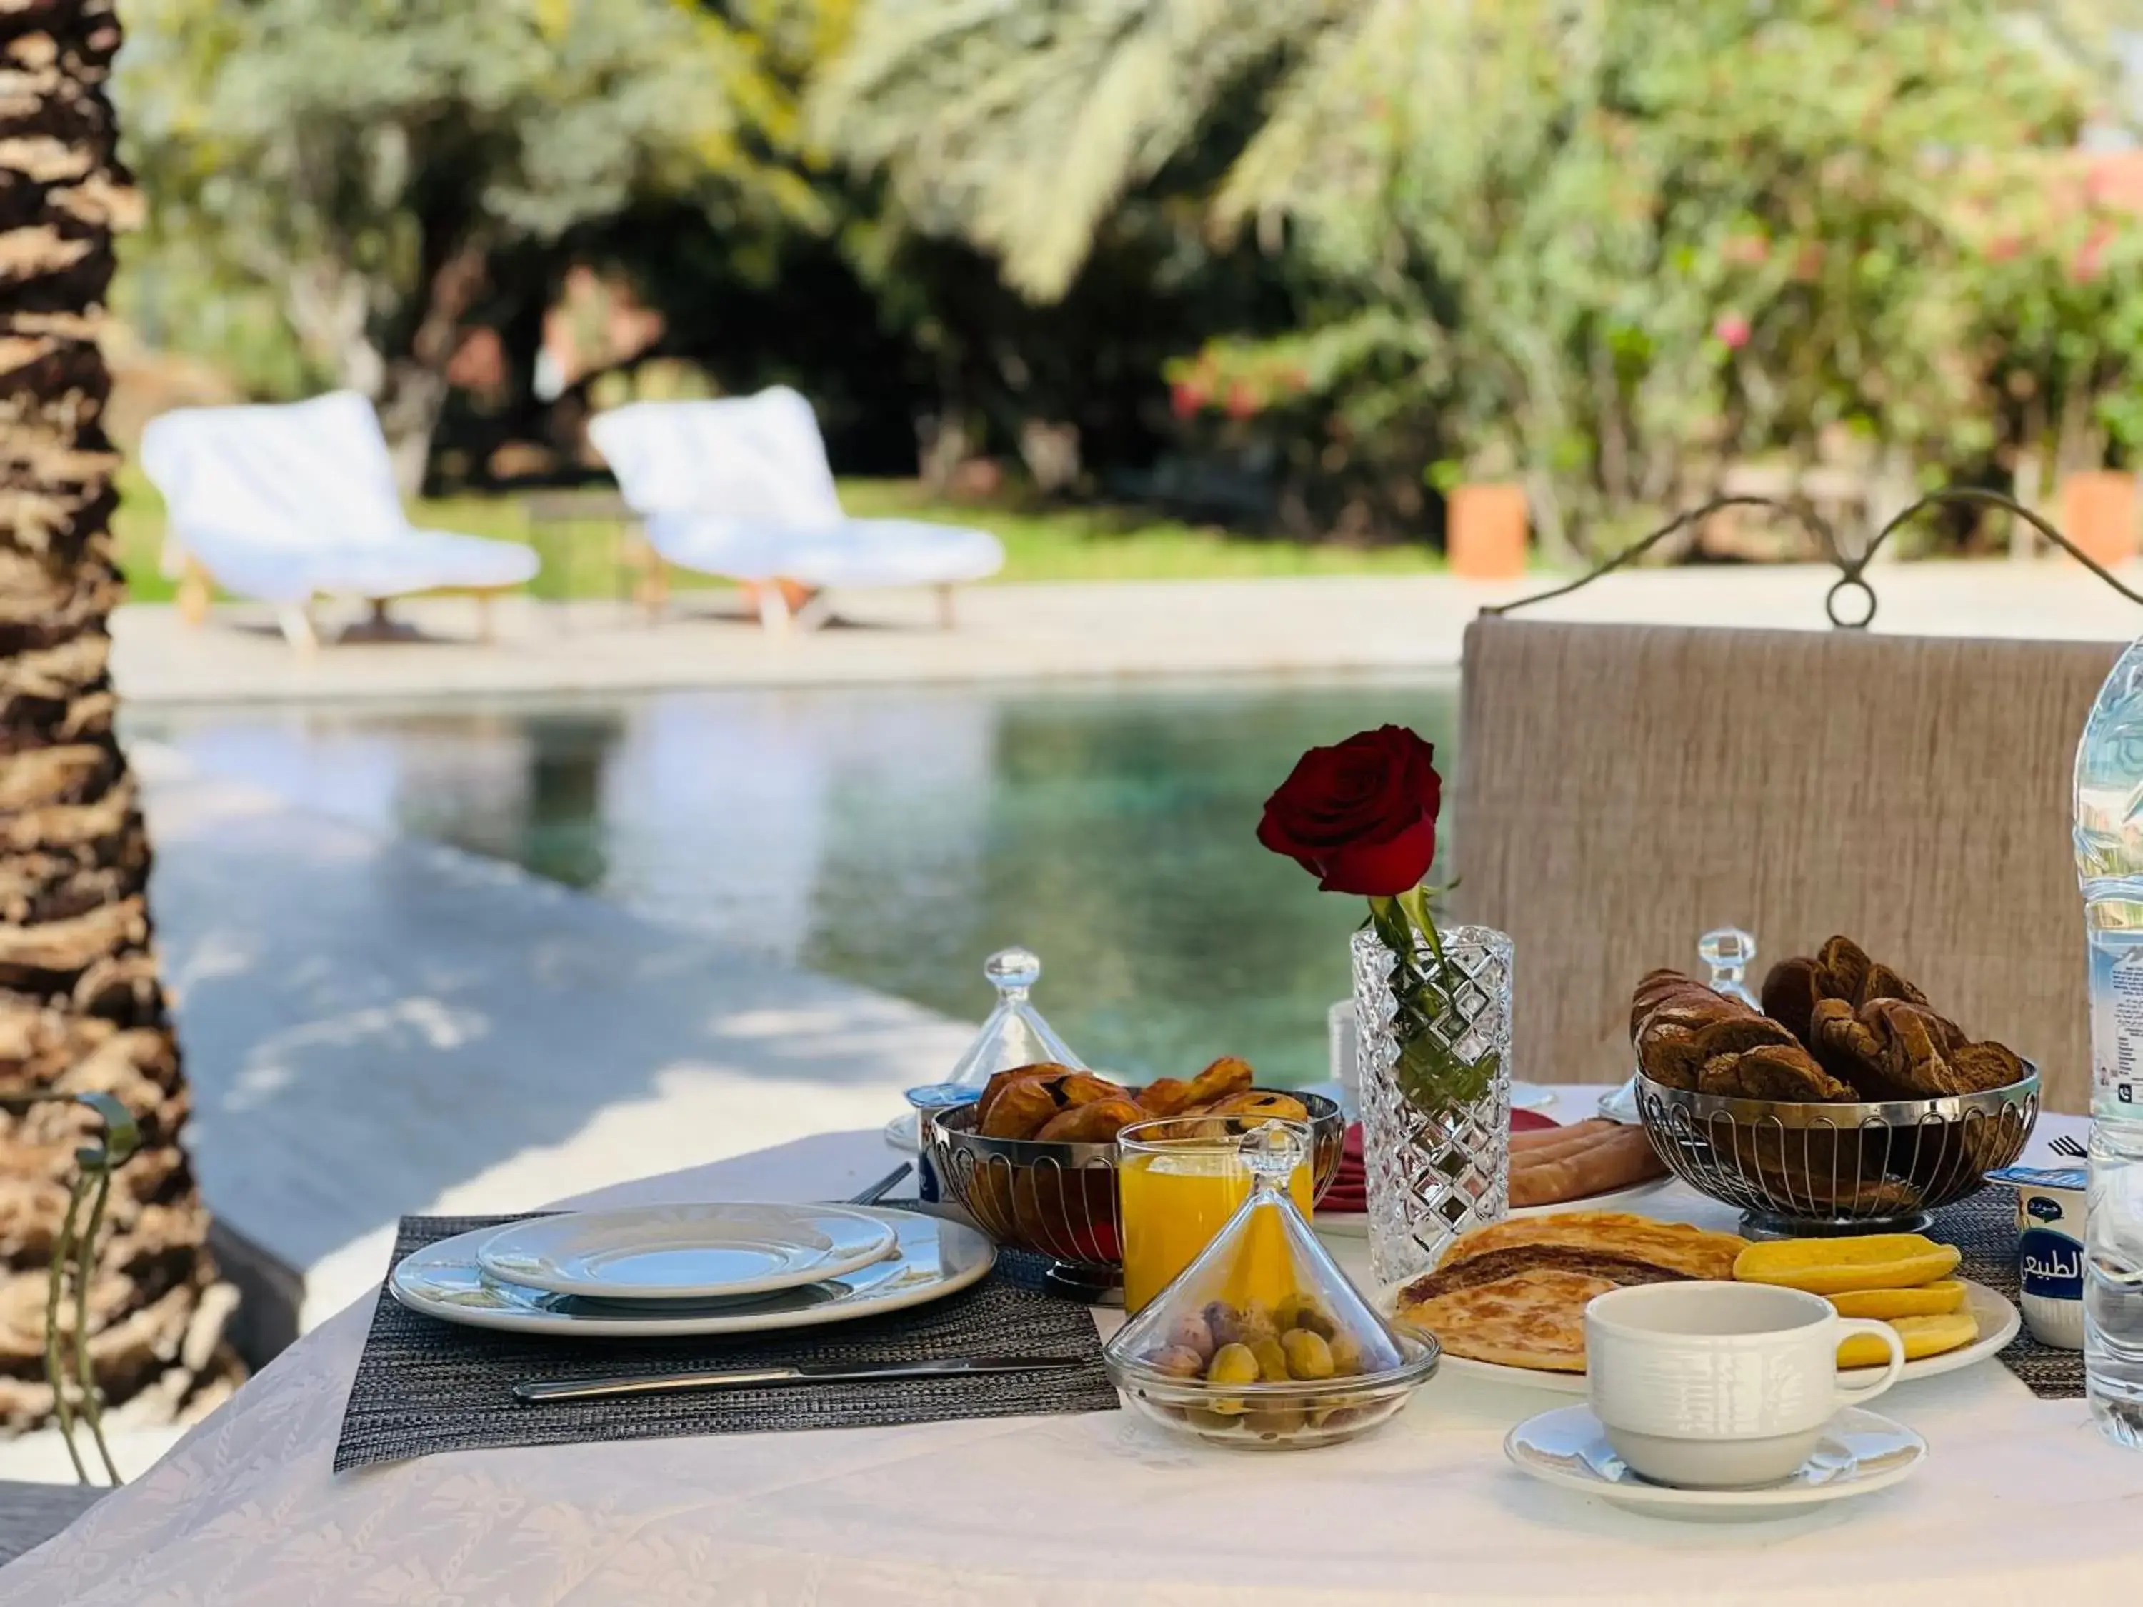
[[(1839, 1343), (1890, 1350), (1873, 1384), (1839, 1384)], [(1905, 1341), (1888, 1322), (1768, 1283), (1644, 1283), (1586, 1307), (1586, 1373), (1607, 1444), (1661, 1485), (1738, 1489), (1787, 1478), (1841, 1406), (1897, 1382)]]

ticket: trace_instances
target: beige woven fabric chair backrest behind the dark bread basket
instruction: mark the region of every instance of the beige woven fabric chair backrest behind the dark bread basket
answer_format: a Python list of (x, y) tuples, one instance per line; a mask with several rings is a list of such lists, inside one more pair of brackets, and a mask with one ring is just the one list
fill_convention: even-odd
[[(1629, 994), (1832, 932), (2089, 1101), (2070, 767), (2117, 645), (1483, 617), (1466, 632), (1457, 908), (1517, 945), (1519, 1076), (1629, 1076)], [(1702, 973), (1699, 973), (1702, 975)]]

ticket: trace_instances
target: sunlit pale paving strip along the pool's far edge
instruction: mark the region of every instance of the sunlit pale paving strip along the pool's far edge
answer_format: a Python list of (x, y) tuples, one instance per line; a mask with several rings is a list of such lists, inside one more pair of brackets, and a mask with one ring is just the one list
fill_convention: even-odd
[[(1935, 636), (2126, 641), (2143, 606), (2068, 559), (1879, 564), (1875, 628)], [(2124, 579), (2143, 591), (2143, 564)], [(1826, 630), (1826, 566), (1708, 566), (1609, 574), (1530, 611), (1539, 619)], [(679, 686), (853, 686), (1159, 675), (1434, 671), (1459, 660), (1487, 604), (1554, 583), (1483, 585), (1447, 574), (1260, 581), (979, 585), (958, 626), (924, 591), (857, 591), (838, 624), (776, 636), (731, 591), (686, 591), (662, 624), (626, 604), (506, 598), (495, 641), (476, 606), (420, 598), (396, 615), (414, 639), (291, 651), (261, 609), (221, 606), (197, 630), (169, 606), (116, 621), (116, 673), (133, 703), (469, 699)], [(332, 624), (332, 617), (324, 613)]]

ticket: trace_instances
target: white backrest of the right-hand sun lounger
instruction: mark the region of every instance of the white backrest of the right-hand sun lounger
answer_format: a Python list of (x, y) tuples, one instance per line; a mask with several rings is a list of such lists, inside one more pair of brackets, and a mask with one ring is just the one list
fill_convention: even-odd
[(714, 514), (771, 529), (840, 523), (810, 403), (789, 386), (722, 401), (626, 403), (587, 424), (639, 514)]

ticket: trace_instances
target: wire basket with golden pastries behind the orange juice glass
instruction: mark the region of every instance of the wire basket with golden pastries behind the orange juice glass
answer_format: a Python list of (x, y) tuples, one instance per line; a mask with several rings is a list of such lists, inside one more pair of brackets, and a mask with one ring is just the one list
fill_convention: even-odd
[(945, 1198), (986, 1234), (1048, 1256), (1059, 1288), (1106, 1298), (1123, 1281), (1117, 1133), (1132, 1123), (1230, 1116), (1249, 1131), (1264, 1121), (1297, 1121), (1312, 1136), (1312, 1198), (1331, 1187), (1346, 1142), (1339, 1106), (1254, 1082), (1249, 1063), (1232, 1056), (1196, 1078), (1159, 1078), (1142, 1088), (1061, 1065), (1022, 1065), (990, 1078), (971, 1106), (930, 1123), (930, 1163)]

